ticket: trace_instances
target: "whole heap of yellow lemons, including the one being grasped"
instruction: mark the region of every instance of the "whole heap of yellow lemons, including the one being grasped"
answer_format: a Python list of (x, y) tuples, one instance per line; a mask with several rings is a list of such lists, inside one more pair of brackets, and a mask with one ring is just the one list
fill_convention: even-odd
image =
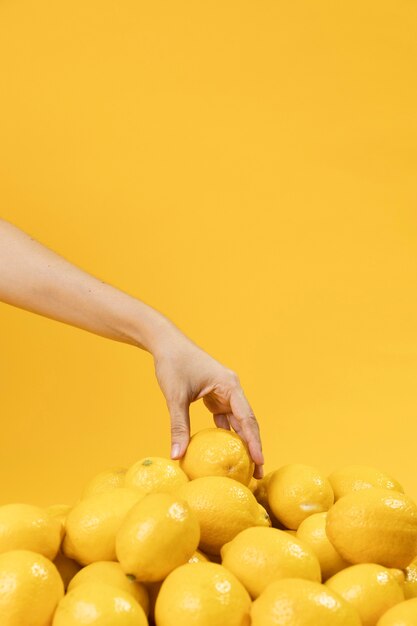
[(417, 506), (367, 466), (252, 478), (233, 432), (0, 507), (1, 626), (416, 626)]

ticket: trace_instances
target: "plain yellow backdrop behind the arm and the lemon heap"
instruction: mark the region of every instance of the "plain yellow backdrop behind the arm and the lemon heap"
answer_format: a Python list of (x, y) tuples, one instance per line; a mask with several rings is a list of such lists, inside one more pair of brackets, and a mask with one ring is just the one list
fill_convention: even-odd
[[(417, 5), (2, 0), (1, 214), (417, 497)], [(1, 502), (169, 454), (149, 354), (0, 305)], [(193, 405), (194, 430), (212, 424)]]

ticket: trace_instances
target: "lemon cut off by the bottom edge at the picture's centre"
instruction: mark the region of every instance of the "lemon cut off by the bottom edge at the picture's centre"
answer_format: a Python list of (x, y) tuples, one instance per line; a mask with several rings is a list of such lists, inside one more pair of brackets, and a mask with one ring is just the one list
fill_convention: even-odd
[(217, 563), (187, 563), (162, 583), (155, 606), (158, 626), (249, 626), (250, 597)]

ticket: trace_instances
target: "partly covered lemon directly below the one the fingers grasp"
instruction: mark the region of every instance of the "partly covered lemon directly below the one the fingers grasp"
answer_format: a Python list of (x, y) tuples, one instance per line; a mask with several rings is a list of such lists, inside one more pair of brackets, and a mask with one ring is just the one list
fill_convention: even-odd
[(220, 554), (222, 545), (250, 526), (269, 526), (269, 519), (253, 493), (233, 478), (205, 476), (190, 480), (178, 490), (197, 515), (200, 548)]

